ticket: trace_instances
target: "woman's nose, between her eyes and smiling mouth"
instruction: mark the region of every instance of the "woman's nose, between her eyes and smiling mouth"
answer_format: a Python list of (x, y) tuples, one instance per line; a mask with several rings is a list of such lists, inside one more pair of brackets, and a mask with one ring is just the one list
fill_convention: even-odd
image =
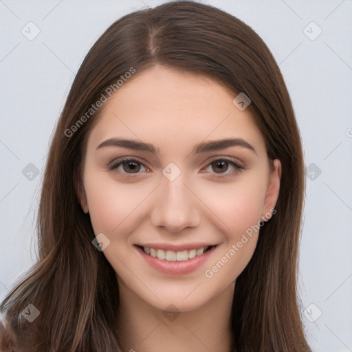
[(199, 200), (184, 181), (182, 173), (173, 181), (162, 177), (162, 184), (157, 188), (151, 213), (154, 226), (177, 233), (184, 228), (199, 225), (201, 219)]

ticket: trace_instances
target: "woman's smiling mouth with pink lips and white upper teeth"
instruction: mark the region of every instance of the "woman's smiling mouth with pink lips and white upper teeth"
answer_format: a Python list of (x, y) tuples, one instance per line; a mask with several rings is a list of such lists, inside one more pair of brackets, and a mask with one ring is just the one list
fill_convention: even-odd
[[(193, 248), (193, 247), (196, 248)], [(137, 253), (146, 264), (153, 269), (168, 275), (186, 275), (200, 268), (212, 254), (218, 245), (190, 245), (188, 248), (181, 246), (175, 250), (168, 249), (164, 245), (135, 245)], [(156, 248), (162, 247), (162, 248)]]

